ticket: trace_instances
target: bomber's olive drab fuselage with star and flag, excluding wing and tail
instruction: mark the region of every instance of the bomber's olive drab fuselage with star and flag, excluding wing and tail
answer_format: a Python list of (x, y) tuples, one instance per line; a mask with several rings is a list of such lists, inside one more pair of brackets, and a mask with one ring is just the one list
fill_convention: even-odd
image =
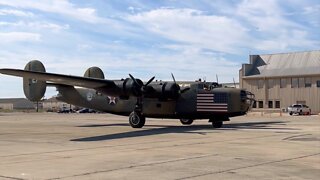
[[(213, 116), (232, 117), (245, 114), (250, 106), (243, 91), (235, 88), (211, 87), (205, 82), (182, 82), (189, 90), (176, 100), (143, 98), (142, 113), (153, 118), (207, 119)], [(107, 96), (94, 89), (58, 86), (58, 99), (81, 107), (128, 116), (136, 106), (137, 98)]]

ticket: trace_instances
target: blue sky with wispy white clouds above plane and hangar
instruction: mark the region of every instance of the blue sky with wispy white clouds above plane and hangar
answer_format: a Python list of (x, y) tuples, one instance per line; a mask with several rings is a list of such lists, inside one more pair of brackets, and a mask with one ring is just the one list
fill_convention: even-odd
[[(0, 0), (0, 68), (227, 83), (250, 54), (319, 50), (319, 29), (320, 0)], [(24, 97), (21, 78), (0, 82)]]

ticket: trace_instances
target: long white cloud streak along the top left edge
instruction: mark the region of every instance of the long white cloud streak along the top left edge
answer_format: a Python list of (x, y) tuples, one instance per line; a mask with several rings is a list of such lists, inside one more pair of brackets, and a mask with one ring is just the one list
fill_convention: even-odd
[(16, 8), (37, 9), (44, 12), (57, 13), (89, 23), (101, 23), (105, 20), (98, 17), (94, 8), (78, 8), (68, 0), (1, 0), (0, 5)]

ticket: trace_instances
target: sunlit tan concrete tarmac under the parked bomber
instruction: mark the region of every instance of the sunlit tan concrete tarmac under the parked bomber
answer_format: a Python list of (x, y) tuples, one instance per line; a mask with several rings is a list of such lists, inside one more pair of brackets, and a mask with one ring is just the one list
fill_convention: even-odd
[(147, 119), (0, 113), (0, 179), (319, 179), (320, 116)]

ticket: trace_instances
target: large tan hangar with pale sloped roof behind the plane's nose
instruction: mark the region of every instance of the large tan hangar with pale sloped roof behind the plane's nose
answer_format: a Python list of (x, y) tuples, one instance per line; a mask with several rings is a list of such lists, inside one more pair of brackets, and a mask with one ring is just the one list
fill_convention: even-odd
[(250, 55), (239, 71), (240, 87), (255, 94), (254, 111), (284, 111), (306, 104), (320, 113), (320, 50)]

